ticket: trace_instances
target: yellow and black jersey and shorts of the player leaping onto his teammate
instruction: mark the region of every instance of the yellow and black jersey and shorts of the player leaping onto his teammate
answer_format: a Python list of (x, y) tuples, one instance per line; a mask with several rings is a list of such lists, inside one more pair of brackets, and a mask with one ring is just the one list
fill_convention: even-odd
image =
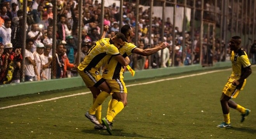
[(103, 38), (97, 41), (77, 67), (78, 73), (84, 80), (85, 85), (87, 87), (98, 87), (104, 82), (98, 69), (104, 61), (108, 61), (111, 56), (117, 56), (119, 54), (117, 47), (112, 43), (111, 39)]

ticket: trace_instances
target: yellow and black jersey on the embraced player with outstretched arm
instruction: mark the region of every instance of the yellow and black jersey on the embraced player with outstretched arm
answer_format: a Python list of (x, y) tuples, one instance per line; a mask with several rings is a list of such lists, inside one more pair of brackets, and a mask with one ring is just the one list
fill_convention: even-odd
[[(125, 44), (121, 48), (119, 48), (119, 52), (125, 58), (131, 55), (132, 51), (136, 48), (137, 46), (135, 46), (134, 44), (125, 42)], [(110, 61), (108, 61), (104, 67), (102, 76), (104, 79), (109, 80), (120, 79), (124, 78), (123, 73), (124, 67), (122, 66), (122, 64), (118, 63), (118, 61), (115, 59), (110, 59)]]

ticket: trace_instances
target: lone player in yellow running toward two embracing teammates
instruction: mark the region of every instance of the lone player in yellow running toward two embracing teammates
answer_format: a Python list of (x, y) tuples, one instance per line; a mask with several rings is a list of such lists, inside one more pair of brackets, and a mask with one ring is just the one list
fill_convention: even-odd
[(246, 52), (241, 49), (241, 42), (242, 39), (239, 36), (233, 36), (229, 42), (229, 47), (231, 50), (230, 60), (232, 62), (233, 71), (222, 90), (223, 93), (221, 95), (220, 102), (224, 122), (217, 125), (217, 127), (231, 127), (229, 108), (234, 108), (241, 113), (242, 118), (240, 122), (244, 122), (245, 117), (250, 113), (249, 109), (246, 109), (230, 100), (231, 98), (236, 98), (240, 90), (243, 90), (244, 86), (246, 85), (246, 78), (252, 73), (251, 63)]

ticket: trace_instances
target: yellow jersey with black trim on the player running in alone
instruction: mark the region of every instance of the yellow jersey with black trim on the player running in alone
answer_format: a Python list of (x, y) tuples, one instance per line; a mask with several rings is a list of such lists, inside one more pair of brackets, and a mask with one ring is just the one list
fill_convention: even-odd
[(232, 62), (232, 74), (230, 78), (238, 80), (240, 76), (243, 74), (243, 68), (251, 66), (249, 58), (246, 52), (242, 49), (239, 49), (237, 53), (232, 51), (230, 60)]

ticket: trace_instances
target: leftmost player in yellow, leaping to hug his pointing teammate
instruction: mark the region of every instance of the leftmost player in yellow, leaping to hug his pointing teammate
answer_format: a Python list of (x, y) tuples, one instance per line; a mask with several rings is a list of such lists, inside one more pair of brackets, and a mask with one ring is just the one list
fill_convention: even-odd
[[(104, 61), (108, 61), (110, 58), (117, 60), (122, 65), (126, 66), (130, 63), (129, 58), (124, 58), (120, 55), (118, 48), (125, 44), (125, 36), (122, 33), (116, 34), (114, 37), (103, 38), (97, 41), (91, 49), (88, 51), (87, 56), (85, 56), (84, 60), (77, 67), (79, 75), (84, 80), (85, 85), (89, 88), (93, 95), (93, 101), (95, 101), (97, 95), (101, 91), (110, 93), (111, 90), (107, 85), (106, 81), (99, 74), (98, 69), (102, 66)], [(98, 105), (98, 103), (97, 103)], [(101, 105), (99, 104), (99, 108), (97, 110), (101, 115)], [(101, 129), (103, 125), (101, 125), (101, 117), (96, 117), (95, 114), (90, 115), (88, 112), (85, 116), (90, 119), (94, 124), (94, 127)], [(99, 118), (99, 120), (97, 120)]]

